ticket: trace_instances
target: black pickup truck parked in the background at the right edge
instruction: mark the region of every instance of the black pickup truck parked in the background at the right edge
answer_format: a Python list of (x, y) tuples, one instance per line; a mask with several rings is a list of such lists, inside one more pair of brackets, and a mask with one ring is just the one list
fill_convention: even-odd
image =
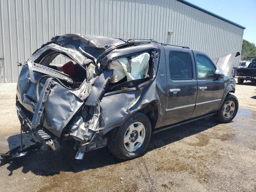
[(238, 68), (235, 78), (238, 78), (239, 84), (242, 84), (244, 80), (256, 82), (256, 62), (250, 62), (247, 68)]

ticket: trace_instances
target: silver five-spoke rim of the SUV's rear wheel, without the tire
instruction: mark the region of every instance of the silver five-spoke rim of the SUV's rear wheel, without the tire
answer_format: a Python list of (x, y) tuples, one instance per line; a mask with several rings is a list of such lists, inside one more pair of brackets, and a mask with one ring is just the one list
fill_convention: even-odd
[(124, 148), (134, 152), (142, 146), (146, 137), (145, 126), (141, 122), (132, 123), (124, 134)]

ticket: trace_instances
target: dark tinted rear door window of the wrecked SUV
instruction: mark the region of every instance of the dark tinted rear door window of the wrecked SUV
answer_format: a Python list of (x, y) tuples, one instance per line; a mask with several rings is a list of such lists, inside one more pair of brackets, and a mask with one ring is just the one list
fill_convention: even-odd
[(171, 51), (169, 53), (170, 77), (173, 80), (193, 79), (192, 60), (187, 52)]

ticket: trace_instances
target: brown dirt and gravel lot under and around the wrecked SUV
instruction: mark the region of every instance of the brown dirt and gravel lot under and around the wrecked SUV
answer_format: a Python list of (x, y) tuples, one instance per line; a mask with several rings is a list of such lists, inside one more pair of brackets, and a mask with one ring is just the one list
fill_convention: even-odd
[[(0, 84), (0, 152), (19, 144), (16, 84)], [(236, 85), (236, 118), (206, 118), (152, 137), (146, 154), (120, 162), (102, 148), (74, 164), (73, 146), (0, 164), (1, 191), (256, 191), (256, 85)], [(28, 135), (23, 136), (28, 142)]]

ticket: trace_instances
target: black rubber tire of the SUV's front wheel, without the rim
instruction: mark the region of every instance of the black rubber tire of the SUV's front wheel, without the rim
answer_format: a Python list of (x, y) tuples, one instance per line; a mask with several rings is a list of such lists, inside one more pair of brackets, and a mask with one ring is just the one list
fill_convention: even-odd
[[(225, 113), (224, 105), (228, 101), (233, 101), (234, 107), (235, 107), (234, 112), (232, 113), (232, 115), (230, 117), (224, 116), (224, 114), (223, 114), (223, 113)], [(224, 102), (221, 105), (220, 109), (218, 110), (218, 120), (222, 123), (229, 123), (230, 121), (232, 121), (234, 119), (234, 117), (237, 114), (237, 111), (238, 111), (238, 100), (237, 100), (236, 96), (234, 96), (233, 94), (228, 94), (226, 96), (226, 98), (224, 99)]]

